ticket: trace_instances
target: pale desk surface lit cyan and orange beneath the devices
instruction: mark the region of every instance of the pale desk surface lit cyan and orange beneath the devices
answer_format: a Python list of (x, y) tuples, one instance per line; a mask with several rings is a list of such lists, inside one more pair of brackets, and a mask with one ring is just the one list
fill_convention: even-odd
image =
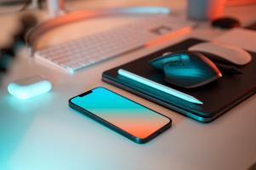
[[(175, 15), (185, 15), (185, 1), (104, 2), (83, 3), (87, 8), (136, 4), (168, 5), (174, 8)], [(71, 8), (80, 6), (77, 3), (70, 5)], [(242, 24), (246, 26), (255, 20), (255, 10), (256, 6), (229, 7), (225, 13), (243, 20)], [(1, 23), (8, 20), (6, 26), (0, 28), (1, 35), (4, 35), (3, 31), (9, 30), (9, 26), (14, 26), (13, 20), (9, 20), (13, 18), (13, 15), (0, 16)], [(108, 18), (100, 22), (105, 22), (104, 26), (108, 27), (124, 21)], [(88, 31), (81, 31), (81, 26)], [(49, 32), (48, 36), (43, 37), (44, 44), (41, 45), (67, 40), (63, 36), (66, 31), (72, 32), (69, 38), (74, 38), (94, 31), (93, 28), (94, 26), (86, 26), (84, 23), (67, 26), (61, 31)], [(208, 22), (199, 22), (196, 30), (188, 37), (211, 39), (223, 33), (224, 31), (211, 29)], [(0, 37), (0, 42), (3, 42), (3, 37)], [(125, 54), (88, 67), (73, 76), (35, 62), (27, 56), (26, 50), (22, 50), (0, 85), (0, 169), (215, 170), (250, 167), (256, 161), (255, 95), (214, 122), (204, 124), (101, 81), (103, 71), (184, 38), (179, 37), (159, 46)], [(33, 74), (48, 77), (54, 84), (52, 92), (28, 100), (14, 99), (8, 94), (9, 82)], [(135, 144), (68, 107), (68, 99), (72, 96), (97, 86), (110, 88), (171, 117), (174, 121), (173, 127), (147, 144)]]

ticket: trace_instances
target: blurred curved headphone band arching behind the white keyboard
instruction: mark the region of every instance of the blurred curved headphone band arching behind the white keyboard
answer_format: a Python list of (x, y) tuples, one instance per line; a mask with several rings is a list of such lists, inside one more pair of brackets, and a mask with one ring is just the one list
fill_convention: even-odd
[(26, 36), (26, 43), (29, 46), (30, 54), (33, 55), (37, 50), (37, 42), (45, 33), (56, 27), (71, 24), (79, 20), (90, 20), (100, 17), (113, 15), (129, 14), (170, 14), (170, 8), (167, 7), (129, 7), (129, 8), (111, 8), (103, 10), (79, 10), (60, 15), (53, 19), (47, 20), (42, 24), (34, 27)]

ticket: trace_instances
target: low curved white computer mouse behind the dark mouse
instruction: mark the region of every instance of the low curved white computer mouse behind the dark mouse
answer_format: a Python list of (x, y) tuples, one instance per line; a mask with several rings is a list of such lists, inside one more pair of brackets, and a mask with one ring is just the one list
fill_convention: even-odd
[(214, 54), (235, 65), (247, 65), (252, 60), (251, 54), (244, 49), (222, 42), (197, 43), (196, 45), (191, 46), (189, 50)]

